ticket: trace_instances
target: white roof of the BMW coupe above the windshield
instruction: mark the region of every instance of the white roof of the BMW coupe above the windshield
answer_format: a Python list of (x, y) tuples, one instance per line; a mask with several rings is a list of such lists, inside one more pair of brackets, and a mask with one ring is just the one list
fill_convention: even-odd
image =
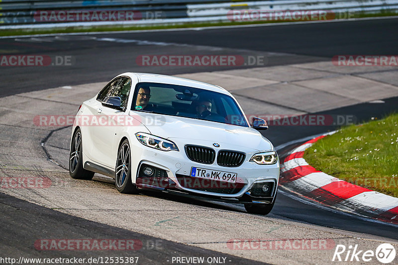
[(139, 82), (183, 85), (183, 86), (201, 88), (201, 89), (206, 89), (206, 90), (230, 95), (230, 93), (226, 89), (224, 89), (218, 85), (212, 85), (209, 83), (204, 83), (204, 82), (200, 82), (200, 81), (192, 80), (192, 79), (188, 79), (188, 78), (182, 78), (182, 77), (164, 75), (164, 74), (157, 74), (157, 73), (142, 73), (142, 72), (126, 72), (126, 73), (122, 73), (120, 75), (128, 75), (130, 77), (133, 77), (133, 75), (136, 75), (138, 77)]

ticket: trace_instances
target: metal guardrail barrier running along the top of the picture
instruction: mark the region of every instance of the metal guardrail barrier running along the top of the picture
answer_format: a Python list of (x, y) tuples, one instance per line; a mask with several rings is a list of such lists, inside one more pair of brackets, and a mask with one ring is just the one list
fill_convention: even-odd
[(231, 21), (236, 10), (398, 12), (398, 0), (1, 0), (0, 29)]

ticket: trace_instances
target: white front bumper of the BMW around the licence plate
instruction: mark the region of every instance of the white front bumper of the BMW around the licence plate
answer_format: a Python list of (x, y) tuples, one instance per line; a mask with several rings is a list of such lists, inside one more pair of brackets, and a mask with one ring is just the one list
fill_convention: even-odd
[[(136, 148), (137, 153), (133, 157), (137, 160), (132, 163), (132, 165), (136, 165), (135, 172), (132, 172), (135, 173), (132, 174), (132, 176), (135, 176), (132, 181), (140, 189), (155, 189), (191, 198), (211, 199), (231, 203), (265, 204), (272, 203), (275, 199), (279, 182), (279, 161), (273, 165), (258, 165), (255, 162), (249, 161), (253, 154), (258, 153), (257, 150), (246, 150), (246, 157), (242, 165), (238, 167), (224, 167), (217, 165), (216, 161), (212, 164), (192, 161), (188, 158), (184, 150), (161, 151), (149, 147), (140, 147)], [(142, 167), (146, 166), (162, 171), (162, 173), (158, 174), (159, 176), (157, 177), (145, 176)], [(216, 185), (212, 185), (214, 181), (213, 183), (209, 183), (205, 179), (192, 178), (190, 177), (192, 167), (236, 173), (237, 180), (234, 187), (238, 188), (228, 188), (228, 185), (231, 184), (226, 182), (219, 182)], [(191, 183), (199, 183), (199, 186), (187, 187), (182, 182), (182, 179), (187, 178), (188, 180), (191, 179)], [(256, 187), (256, 191), (258, 191), (260, 184), (272, 184), (272, 190), (264, 196), (261, 193), (260, 196), (259, 193), (253, 194), (252, 189)]]

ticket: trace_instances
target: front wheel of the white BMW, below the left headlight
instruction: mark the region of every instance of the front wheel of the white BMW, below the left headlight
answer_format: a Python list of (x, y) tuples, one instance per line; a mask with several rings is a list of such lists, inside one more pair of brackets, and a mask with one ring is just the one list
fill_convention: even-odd
[(115, 167), (115, 185), (120, 193), (136, 194), (137, 187), (131, 181), (131, 152), (130, 144), (125, 139), (117, 152)]

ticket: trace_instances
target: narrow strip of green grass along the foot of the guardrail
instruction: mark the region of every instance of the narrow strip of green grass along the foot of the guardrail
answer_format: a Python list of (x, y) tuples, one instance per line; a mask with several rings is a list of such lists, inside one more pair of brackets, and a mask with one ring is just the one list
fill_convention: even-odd
[[(362, 13), (358, 12), (352, 18), (361, 17), (383, 17), (383, 16), (396, 16), (397, 12), (394, 11), (380, 11), (378, 13)], [(300, 22), (300, 21), (282, 21), (282, 22)], [(253, 24), (267, 24), (267, 23), (281, 23), (281, 21), (214, 21), (206, 23), (180, 23), (169, 25), (125, 25), (125, 26), (82, 26), (82, 27), (64, 27), (64, 28), (49, 28), (49, 29), (2, 29), (0, 36), (19, 36), (19, 35), (32, 35), (32, 34), (54, 34), (54, 33), (79, 33), (79, 32), (104, 32), (104, 31), (124, 31), (124, 30), (148, 30), (148, 29), (171, 29), (171, 28), (191, 28), (191, 27), (211, 27), (211, 26), (234, 26), (234, 25), (253, 25)]]

